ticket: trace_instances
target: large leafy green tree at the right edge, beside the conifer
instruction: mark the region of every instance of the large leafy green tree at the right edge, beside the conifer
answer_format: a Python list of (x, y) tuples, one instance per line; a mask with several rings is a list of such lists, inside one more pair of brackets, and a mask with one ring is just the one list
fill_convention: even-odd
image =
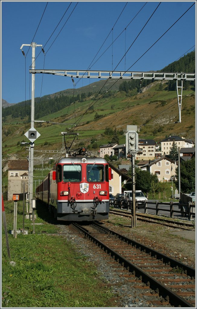
[[(175, 172), (176, 179), (175, 185), (178, 189), (179, 178), (178, 178), (178, 167)], [(181, 192), (191, 193), (195, 191), (195, 158), (187, 160), (181, 163), (180, 166), (180, 176), (181, 176)]]

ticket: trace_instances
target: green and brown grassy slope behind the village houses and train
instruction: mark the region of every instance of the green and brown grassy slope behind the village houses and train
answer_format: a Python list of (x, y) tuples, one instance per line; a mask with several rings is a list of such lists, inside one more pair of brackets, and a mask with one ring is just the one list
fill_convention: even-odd
[[(61, 111), (46, 115), (39, 120), (61, 122), (66, 123), (66, 125), (35, 123), (35, 128), (41, 136), (36, 140), (34, 150), (61, 150), (61, 132), (70, 131), (72, 128), (74, 132), (79, 133), (78, 139), (73, 143), (75, 148), (80, 147), (79, 142), (83, 142), (84, 146), (87, 147), (92, 138), (97, 140), (98, 145), (110, 142), (112, 137), (103, 134), (107, 126), (126, 131), (127, 125), (137, 125), (140, 128), (139, 138), (154, 139), (156, 142), (161, 141), (166, 135), (179, 135), (195, 139), (195, 96), (189, 95), (192, 90), (183, 91), (182, 121), (177, 124), (173, 123), (179, 120), (176, 91), (157, 90), (158, 85), (149, 88), (144, 93), (134, 95), (134, 92), (132, 92), (129, 94), (130, 96), (126, 96), (125, 92), (117, 92), (109, 98), (88, 100), (82, 103), (76, 102), (71, 104), (69, 108), (66, 107)], [(161, 100), (165, 100), (166, 104), (162, 106)], [(94, 111), (86, 112), (92, 103), (94, 104)], [(106, 116), (94, 120), (96, 112), (99, 115)], [(17, 145), (22, 140), (28, 142), (23, 131), (27, 132), (29, 128), (28, 125), (24, 125), (23, 121), (20, 118), (7, 119), (7, 123), (2, 123), (2, 159), (5, 159), (3, 165), (13, 154), (19, 159), (24, 159), (28, 155), (25, 146)], [(71, 125), (73, 123), (78, 123), (77, 129), (74, 125)], [(144, 125), (145, 123), (147, 125)], [(162, 130), (153, 134), (153, 130), (159, 127)], [(6, 137), (4, 132), (8, 129), (11, 130), (11, 133)], [(48, 145), (44, 145), (45, 142), (48, 142)], [(70, 145), (71, 142), (72, 138), (68, 138), (67, 145)], [(125, 136), (119, 136), (119, 144), (124, 143)], [(36, 153), (36, 156), (39, 155), (40, 153)], [(46, 155), (44, 159), (48, 157)], [(3, 174), (2, 183), (7, 183), (6, 178), (7, 174)]]

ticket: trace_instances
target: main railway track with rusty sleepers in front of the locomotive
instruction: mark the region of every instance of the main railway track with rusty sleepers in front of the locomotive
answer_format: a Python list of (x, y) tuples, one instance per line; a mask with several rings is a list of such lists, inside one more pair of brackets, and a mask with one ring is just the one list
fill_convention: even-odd
[(86, 227), (72, 223), (69, 228), (116, 261), (120, 276), (135, 281), (153, 307), (195, 307), (195, 269), (96, 222)]

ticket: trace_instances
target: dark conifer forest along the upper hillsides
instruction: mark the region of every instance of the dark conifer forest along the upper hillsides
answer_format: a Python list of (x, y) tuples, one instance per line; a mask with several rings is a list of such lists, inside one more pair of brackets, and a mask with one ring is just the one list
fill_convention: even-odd
[[(172, 64), (169, 64), (160, 72), (195, 72), (195, 51), (192, 51), (191, 53), (188, 53), (187, 55), (184, 55), (182, 58), (180, 58), (178, 61), (173, 62)], [(98, 82), (99, 83), (99, 82)], [(145, 87), (146, 85), (152, 83), (151, 80), (142, 80), (141, 87)], [(95, 83), (94, 83), (95, 84)], [(194, 85), (194, 82), (184, 82), (184, 88), (188, 89), (191, 85)], [(95, 87), (95, 86), (94, 86)], [(176, 83), (174, 81), (168, 82), (168, 87), (165, 88), (167, 91), (174, 91), (176, 87)], [(87, 88), (86, 88), (87, 89)], [(51, 94), (51, 95), (45, 95), (41, 98), (35, 98), (35, 119), (38, 119), (40, 117), (46, 116), (47, 114), (52, 114), (57, 111), (60, 111), (61, 109), (65, 108), (66, 106), (69, 106), (73, 102), (83, 102), (87, 99), (94, 99), (94, 97), (98, 94), (98, 91), (95, 92), (93, 86), (89, 87), (89, 90), (87, 93), (81, 92), (78, 95), (70, 96), (65, 95), (64, 93), (66, 91), (62, 91), (63, 94)], [(130, 81), (124, 81), (119, 85), (119, 91), (125, 91), (128, 93), (128, 91), (134, 91), (134, 93), (139, 92), (140, 90), (140, 80), (130, 80)], [(103, 91), (101, 94), (105, 93), (106, 91)], [(113, 96), (114, 93), (117, 92), (115, 90), (111, 90), (106, 92), (103, 97), (109, 97)], [(98, 98), (97, 98), (98, 99)], [(15, 104), (11, 107), (2, 108), (2, 122), (6, 121), (6, 116), (11, 116), (12, 118), (21, 118), (24, 119), (25, 117), (30, 116), (31, 114), (31, 100), (27, 100), (26, 102), (20, 102), (18, 104)]]

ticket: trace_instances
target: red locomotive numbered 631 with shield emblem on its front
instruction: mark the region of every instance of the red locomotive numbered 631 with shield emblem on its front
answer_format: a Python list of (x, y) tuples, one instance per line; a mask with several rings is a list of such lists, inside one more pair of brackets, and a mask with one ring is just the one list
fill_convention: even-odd
[(103, 158), (61, 158), (36, 188), (37, 199), (57, 220), (92, 221), (109, 218), (111, 168)]

